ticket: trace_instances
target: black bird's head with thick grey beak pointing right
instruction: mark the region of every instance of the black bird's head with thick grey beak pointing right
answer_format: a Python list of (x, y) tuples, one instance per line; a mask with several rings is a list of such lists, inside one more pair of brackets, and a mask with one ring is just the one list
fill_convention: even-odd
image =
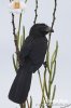
[(54, 30), (52, 29), (52, 27), (48, 27), (45, 24), (36, 24), (31, 27), (30, 29), (30, 36), (45, 36), (48, 32), (54, 32)]

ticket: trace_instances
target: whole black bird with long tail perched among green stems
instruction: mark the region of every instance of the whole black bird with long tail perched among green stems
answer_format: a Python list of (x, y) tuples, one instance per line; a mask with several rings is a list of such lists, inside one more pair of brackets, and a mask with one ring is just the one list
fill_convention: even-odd
[(36, 24), (31, 27), (19, 52), (19, 68), (9, 93), (9, 98), (14, 103), (22, 104), (27, 99), (32, 73), (44, 63), (47, 49), (45, 35), (53, 31), (45, 24)]

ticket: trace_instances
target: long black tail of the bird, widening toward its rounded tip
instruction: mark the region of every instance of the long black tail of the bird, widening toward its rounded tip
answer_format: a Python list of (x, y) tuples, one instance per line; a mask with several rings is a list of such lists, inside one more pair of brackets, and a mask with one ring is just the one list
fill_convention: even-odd
[(29, 73), (25, 67), (17, 70), (16, 78), (9, 93), (11, 100), (17, 104), (25, 103), (30, 90), (31, 77), (32, 73)]

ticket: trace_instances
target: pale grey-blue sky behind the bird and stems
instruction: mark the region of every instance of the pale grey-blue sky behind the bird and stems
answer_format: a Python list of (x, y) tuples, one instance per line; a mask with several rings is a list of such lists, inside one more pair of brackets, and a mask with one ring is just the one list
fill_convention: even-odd
[[(39, 0), (38, 23), (46, 23), (51, 26), (54, 0)], [(34, 0), (28, 0), (23, 17), (23, 25), (26, 26), (26, 36), (32, 25), (34, 17)], [(18, 23), (18, 22), (16, 22)], [(56, 40), (59, 49), (57, 56), (57, 70), (55, 84), (57, 85), (56, 100), (71, 104), (71, 0), (58, 0), (55, 32), (52, 36), (51, 51), (54, 51)], [(12, 63), (14, 53), (14, 42), (12, 35), (11, 14), (9, 11), (9, 0), (0, 1), (0, 108), (19, 108), (17, 104), (8, 98), (11, 84), (15, 78)], [(41, 72), (43, 68), (41, 68)], [(38, 73), (32, 78), (30, 93), (33, 97), (33, 108), (40, 102), (40, 86)], [(60, 108), (60, 107), (54, 107)], [(69, 107), (70, 108), (70, 107)]]

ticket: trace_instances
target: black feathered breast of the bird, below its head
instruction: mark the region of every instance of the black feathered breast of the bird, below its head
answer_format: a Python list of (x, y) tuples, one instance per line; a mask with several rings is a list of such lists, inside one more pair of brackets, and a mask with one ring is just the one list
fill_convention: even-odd
[(33, 64), (42, 65), (47, 49), (47, 41), (45, 38), (36, 39), (32, 44), (30, 58)]

